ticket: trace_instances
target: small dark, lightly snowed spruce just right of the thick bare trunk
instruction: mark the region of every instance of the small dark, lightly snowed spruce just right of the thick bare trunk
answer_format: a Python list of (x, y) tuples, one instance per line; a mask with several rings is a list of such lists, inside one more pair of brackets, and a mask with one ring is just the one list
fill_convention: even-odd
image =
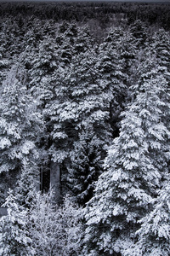
[(72, 198), (84, 206), (93, 195), (94, 181), (101, 174), (102, 145), (92, 125), (84, 125), (79, 139), (71, 151), (71, 168), (68, 168), (67, 186)]

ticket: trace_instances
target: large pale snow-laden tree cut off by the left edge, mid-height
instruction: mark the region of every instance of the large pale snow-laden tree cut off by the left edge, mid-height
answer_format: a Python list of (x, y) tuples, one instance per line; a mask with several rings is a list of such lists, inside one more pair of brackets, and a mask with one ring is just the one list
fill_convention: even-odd
[[(8, 183), (13, 173), (15, 178), (20, 173), (27, 158), (34, 165), (38, 156), (37, 133), (40, 135), (42, 132), (37, 102), (29, 95), (20, 78), (20, 69), (17, 71), (17, 67), (13, 67), (3, 82), (0, 99), (0, 173), (3, 178), (8, 176)], [(12, 188), (14, 183), (13, 180)]]

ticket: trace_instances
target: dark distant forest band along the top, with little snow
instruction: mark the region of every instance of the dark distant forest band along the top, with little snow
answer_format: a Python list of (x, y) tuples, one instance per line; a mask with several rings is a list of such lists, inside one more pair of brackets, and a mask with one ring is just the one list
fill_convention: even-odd
[(98, 20), (99, 26), (109, 26), (115, 21), (127, 20), (131, 24), (134, 20), (142, 20), (148, 25), (170, 28), (169, 3), (111, 3), (111, 2), (19, 2), (0, 3), (0, 16), (14, 16), (14, 20), (36, 16), (42, 20), (75, 20), (87, 22)]

